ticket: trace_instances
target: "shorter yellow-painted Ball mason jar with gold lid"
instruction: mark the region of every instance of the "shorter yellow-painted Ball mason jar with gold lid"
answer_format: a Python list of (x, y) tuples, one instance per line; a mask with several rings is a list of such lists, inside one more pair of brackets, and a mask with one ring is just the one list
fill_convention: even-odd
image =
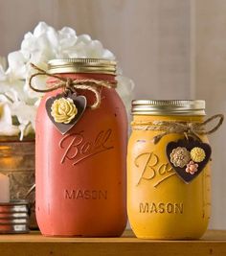
[[(136, 100), (132, 114), (127, 153), (127, 212), (132, 230), (144, 239), (200, 238), (210, 219), (209, 161), (188, 182), (175, 172), (167, 148), (179, 141), (186, 144), (190, 137), (208, 144), (205, 135), (198, 141), (190, 129), (191, 124), (203, 122), (205, 102)], [(174, 124), (183, 128), (175, 130)]]

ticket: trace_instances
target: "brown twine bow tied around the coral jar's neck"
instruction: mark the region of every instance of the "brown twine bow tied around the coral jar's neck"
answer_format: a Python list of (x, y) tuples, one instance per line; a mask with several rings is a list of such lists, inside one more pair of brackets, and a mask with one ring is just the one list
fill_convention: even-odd
[[(89, 90), (89, 91), (93, 92), (96, 97), (95, 103), (93, 105), (90, 105), (90, 107), (92, 109), (95, 109), (101, 105), (101, 95), (98, 90), (99, 87), (106, 87), (106, 88), (116, 88), (117, 87), (116, 82), (114, 83), (114, 82), (94, 80), (94, 79), (72, 80), (71, 78), (62, 78), (60, 76), (50, 74), (50, 73), (46, 72), (45, 70), (34, 65), (34, 63), (31, 63), (31, 66), (35, 70), (38, 71), (38, 72), (34, 73), (30, 77), (30, 80), (29, 80), (29, 86), (35, 92), (51, 92), (51, 91), (55, 91), (59, 88), (62, 88), (65, 93), (67, 91), (75, 92), (75, 89)], [(45, 88), (45, 89), (35, 88), (32, 81), (35, 77), (38, 77), (38, 76), (47, 76), (50, 78), (55, 78), (56, 82), (54, 82), (54, 85), (51, 86), (50, 88)]]

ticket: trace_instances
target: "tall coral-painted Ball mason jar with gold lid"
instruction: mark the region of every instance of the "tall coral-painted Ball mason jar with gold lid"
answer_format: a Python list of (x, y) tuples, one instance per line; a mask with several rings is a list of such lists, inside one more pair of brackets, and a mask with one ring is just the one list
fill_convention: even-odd
[[(46, 93), (37, 111), (40, 231), (45, 236), (121, 236), (126, 224), (127, 118), (116, 90), (102, 86), (116, 84), (116, 62), (54, 59), (48, 72), (76, 85)], [(47, 87), (60, 82), (51, 77)], [(99, 107), (92, 107), (98, 101), (93, 89), (100, 96)]]

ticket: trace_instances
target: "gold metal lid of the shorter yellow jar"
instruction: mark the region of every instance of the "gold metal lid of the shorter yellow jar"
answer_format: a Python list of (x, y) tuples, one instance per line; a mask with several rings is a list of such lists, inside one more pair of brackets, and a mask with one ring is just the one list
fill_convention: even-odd
[(134, 115), (205, 115), (205, 101), (202, 100), (134, 100)]

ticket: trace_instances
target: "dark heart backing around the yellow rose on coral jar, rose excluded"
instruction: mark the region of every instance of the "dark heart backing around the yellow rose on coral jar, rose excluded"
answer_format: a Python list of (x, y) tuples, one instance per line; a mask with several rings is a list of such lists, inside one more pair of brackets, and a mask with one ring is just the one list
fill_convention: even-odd
[[(70, 120), (69, 123), (64, 124), (64, 123), (59, 123), (56, 122), (54, 115), (52, 114), (52, 105), (56, 102), (56, 100), (64, 99), (67, 101), (69, 100), (70, 104), (74, 104), (73, 107), (76, 107), (77, 113), (75, 117)], [(82, 116), (85, 108), (86, 108), (86, 98), (84, 96), (77, 96), (76, 93), (68, 93), (67, 95), (65, 94), (57, 94), (56, 97), (51, 97), (46, 101), (46, 110), (48, 113), (48, 116), (50, 120), (54, 123), (56, 128), (60, 131), (61, 134), (65, 134), (67, 131), (69, 131), (71, 128), (73, 128), (79, 121), (80, 117)], [(65, 115), (67, 115), (67, 109), (65, 110)], [(70, 115), (69, 115), (70, 118)]]

